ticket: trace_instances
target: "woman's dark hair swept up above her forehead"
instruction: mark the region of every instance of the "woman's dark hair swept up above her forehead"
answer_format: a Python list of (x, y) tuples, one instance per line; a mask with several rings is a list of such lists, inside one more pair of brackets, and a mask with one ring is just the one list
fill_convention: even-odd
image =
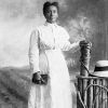
[(45, 13), (48, 12), (48, 9), (50, 8), (50, 6), (52, 6), (52, 5), (54, 5), (54, 6), (56, 6), (56, 9), (57, 9), (57, 11), (59, 10), (59, 5), (58, 5), (58, 2), (50, 2), (50, 1), (46, 1), (44, 4), (43, 4), (43, 15), (45, 16)]

